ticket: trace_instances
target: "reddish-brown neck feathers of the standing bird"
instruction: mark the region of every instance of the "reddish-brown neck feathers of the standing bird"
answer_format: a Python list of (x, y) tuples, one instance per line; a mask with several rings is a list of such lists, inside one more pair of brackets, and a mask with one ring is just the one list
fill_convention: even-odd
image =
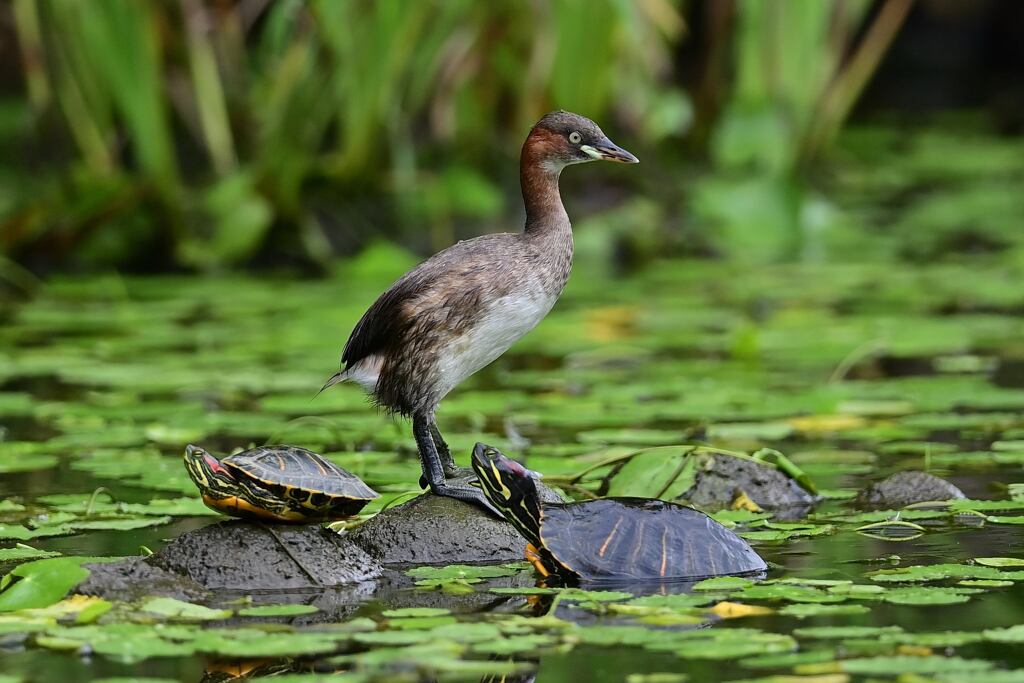
[(541, 234), (569, 229), (569, 217), (558, 194), (558, 175), (563, 164), (557, 150), (562, 138), (545, 128), (535, 128), (522, 145), (519, 183), (526, 205), (526, 233)]

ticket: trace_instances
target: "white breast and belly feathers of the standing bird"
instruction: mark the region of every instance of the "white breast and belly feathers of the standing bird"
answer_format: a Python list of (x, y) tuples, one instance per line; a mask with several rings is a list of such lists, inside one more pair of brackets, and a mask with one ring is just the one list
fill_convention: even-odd
[(503, 296), (487, 304), (479, 321), (438, 354), (435, 372), (439, 397), (464, 379), (490, 364), (520, 337), (537, 327), (557, 296), (542, 288), (528, 288)]

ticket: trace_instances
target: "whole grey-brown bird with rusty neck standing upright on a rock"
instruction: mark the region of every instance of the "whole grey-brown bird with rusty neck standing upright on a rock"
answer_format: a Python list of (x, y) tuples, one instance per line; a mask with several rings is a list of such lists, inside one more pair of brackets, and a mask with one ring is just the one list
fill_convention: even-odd
[[(565, 166), (636, 163), (589, 119), (553, 112), (530, 129), (519, 179), (525, 229), (460, 242), (402, 275), (367, 310), (325, 388), (361, 384), (375, 402), (412, 417), (424, 485), (487, 509), (474, 475), (456, 467), (434, 423), (440, 400), (504, 353), (554, 305), (572, 267), (572, 229), (558, 193)], [(453, 483), (451, 479), (458, 478)]]

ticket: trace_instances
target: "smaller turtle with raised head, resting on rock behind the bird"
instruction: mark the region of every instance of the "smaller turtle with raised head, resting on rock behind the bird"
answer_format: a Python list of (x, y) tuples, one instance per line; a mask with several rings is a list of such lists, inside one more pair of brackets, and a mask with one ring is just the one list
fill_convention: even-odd
[(234, 517), (284, 522), (341, 519), (379, 497), (351, 472), (294, 445), (259, 446), (223, 460), (189, 445), (184, 459), (203, 502)]

